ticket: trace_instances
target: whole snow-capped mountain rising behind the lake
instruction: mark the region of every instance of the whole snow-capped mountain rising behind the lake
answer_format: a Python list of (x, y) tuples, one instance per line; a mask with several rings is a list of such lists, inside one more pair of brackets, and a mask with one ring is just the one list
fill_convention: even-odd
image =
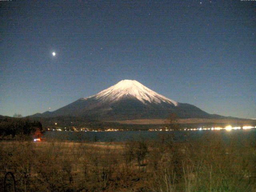
[(171, 113), (179, 118), (222, 118), (194, 105), (162, 96), (136, 80), (122, 80), (98, 94), (80, 98), (53, 112), (32, 117), (76, 116), (96, 120), (166, 119)]

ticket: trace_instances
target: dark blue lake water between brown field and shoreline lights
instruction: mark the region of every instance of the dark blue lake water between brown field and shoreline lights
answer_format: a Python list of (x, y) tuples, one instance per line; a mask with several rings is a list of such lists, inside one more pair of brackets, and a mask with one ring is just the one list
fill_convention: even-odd
[(160, 135), (174, 134), (178, 141), (196, 140), (206, 134), (220, 132), (224, 138), (236, 135), (238, 138), (256, 138), (256, 129), (250, 130), (197, 130), (197, 131), (111, 131), (111, 132), (70, 132), (70, 131), (48, 131), (44, 133), (46, 140), (70, 140), (70, 141), (98, 141), (98, 142), (122, 142), (129, 140), (154, 140)]

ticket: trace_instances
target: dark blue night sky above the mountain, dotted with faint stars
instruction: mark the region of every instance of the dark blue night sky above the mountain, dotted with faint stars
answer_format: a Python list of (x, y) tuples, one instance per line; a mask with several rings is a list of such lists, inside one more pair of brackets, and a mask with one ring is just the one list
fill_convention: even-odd
[(1, 1), (0, 34), (1, 115), (53, 111), (131, 79), (256, 118), (253, 1)]

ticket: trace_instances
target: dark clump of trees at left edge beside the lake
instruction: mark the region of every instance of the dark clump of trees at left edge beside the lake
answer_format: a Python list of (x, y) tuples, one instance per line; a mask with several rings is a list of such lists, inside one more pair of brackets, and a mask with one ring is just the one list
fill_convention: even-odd
[(0, 136), (31, 135), (42, 131), (39, 121), (31, 122), (27, 118), (5, 118), (0, 121)]

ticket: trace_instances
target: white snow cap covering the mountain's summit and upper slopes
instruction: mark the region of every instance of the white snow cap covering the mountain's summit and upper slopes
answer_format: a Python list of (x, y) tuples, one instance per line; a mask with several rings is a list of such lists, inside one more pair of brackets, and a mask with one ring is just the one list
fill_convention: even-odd
[(88, 98), (95, 98), (96, 100), (100, 100), (102, 102), (115, 102), (126, 96), (137, 98), (143, 104), (145, 104), (146, 101), (159, 104), (161, 102), (166, 102), (173, 104), (174, 106), (178, 106), (178, 102), (150, 90), (136, 80), (122, 80), (114, 86), (111, 86), (110, 88), (107, 88), (96, 95), (83, 99), (87, 100)]

